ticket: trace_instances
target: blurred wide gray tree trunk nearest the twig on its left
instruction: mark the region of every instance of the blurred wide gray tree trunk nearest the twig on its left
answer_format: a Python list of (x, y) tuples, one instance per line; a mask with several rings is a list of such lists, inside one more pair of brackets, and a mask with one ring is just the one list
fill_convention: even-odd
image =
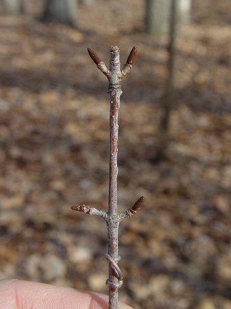
[(58, 21), (77, 27), (76, 0), (47, 0), (42, 21)]

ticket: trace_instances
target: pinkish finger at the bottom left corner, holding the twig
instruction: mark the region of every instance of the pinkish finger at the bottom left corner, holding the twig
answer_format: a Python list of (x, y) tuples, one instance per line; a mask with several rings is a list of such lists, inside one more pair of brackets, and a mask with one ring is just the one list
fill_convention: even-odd
[[(16, 279), (0, 281), (0, 308), (4, 309), (106, 309), (108, 297), (73, 288)], [(119, 304), (119, 309), (131, 309)]]

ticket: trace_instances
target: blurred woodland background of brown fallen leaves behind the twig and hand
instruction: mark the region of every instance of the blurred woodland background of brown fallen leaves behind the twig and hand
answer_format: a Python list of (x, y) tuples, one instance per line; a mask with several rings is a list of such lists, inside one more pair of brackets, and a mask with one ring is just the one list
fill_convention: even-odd
[(123, 64), (137, 45), (121, 96), (119, 210), (147, 202), (121, 223), (120, 299), (230, 309), (230, 0), (181, 1), (167, 134), (172, 14), (155, 1), (1, 0), (0, 277), (107, 293), (106, 224), (71, 210), (108, 202), (108, 81), (86, 49), (108, 64), (117, 45)]

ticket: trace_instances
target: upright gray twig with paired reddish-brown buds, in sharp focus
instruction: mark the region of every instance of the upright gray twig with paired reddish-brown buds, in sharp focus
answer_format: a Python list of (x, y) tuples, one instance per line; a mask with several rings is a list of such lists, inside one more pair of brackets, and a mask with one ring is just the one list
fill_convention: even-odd
[(97, 210), (94, 207), (85, 205), (74, 205), (73, 210), (84, 211), (86, 214), (93, 216), (100, 216), (106, 220), (108, 227), (108, 253), (106, 258), (109, 262), (109, 278), (106, 280), (106, 284), (109, 288), (109, 309), (118, 308), (118, 289), (123, 284), (123, 275), (118, 266), (120, 260), (119, 257), (119, 245), (118, 245), (118, 231), (119, 222), (124, 218), (129, 218), (136, 214), (136, 211), (141, 207), (145, 198), (141, 198), (136, 201), (133, 207), (123, 212), (118, 212), (117, 209), (117, 154), (118, 154), (118, 114), (120, 106), (121, 96), (121, 81), (123, 76), (127, 75), (132, 69), (133, 62), (136, 58), (137, 48), (134, 46), (130, 55), (127, 57), (127, 61), (121, 70), (121, 64), (119, 60), (119, 48), (112, 46), (110, 48), (110, 69), (108, 69), (105, 63), (99, 58), (97, 53), (93, 49), (88, 48), (90, 58), (93, 59), (98, 69), (108, 78), (110, 95), (110, 163), (109, 163), (109, 198), (108, 198), (108, 211)]

